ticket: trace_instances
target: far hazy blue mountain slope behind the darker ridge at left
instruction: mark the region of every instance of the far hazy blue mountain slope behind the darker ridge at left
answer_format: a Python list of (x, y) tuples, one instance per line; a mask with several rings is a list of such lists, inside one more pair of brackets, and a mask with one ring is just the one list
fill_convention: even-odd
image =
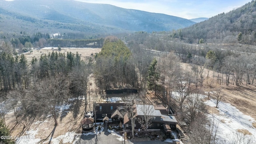
[[(38, 20), (51, 20), (78, 24), (112, 31), (170, 31), (184, 28), (195, 22), (140, 10), (130, 10), (109, 4), (90, 4), (73, 0), (0, 0), (0, 8)], [(12, 15), (15, 17), (14, 15)], [(70, 29), (73, 29), (70, 27)], [(102, 30), (102, 31), (106, 31)]]

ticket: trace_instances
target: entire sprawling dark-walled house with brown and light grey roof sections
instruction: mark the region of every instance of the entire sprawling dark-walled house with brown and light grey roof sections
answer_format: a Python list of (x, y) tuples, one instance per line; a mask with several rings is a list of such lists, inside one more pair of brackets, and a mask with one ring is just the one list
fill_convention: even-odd
[[(123, 116), (123, 112), (120, 111), (120, 108), (124, 107), (125, 103), (96, 103), (94, 106), (96, 122), (104, 122), (105, 126), (108, 126), (109, 123), (122, 122), (124, 129), (132, 130), (131, 120), (128, 118), (128, 114)], [(134, 104), (132, 108), (135, 117), (135, 130), (143, 129), (139, 121), (141, 118), (144, 118), (145, 114), (151, 118), (151, 124), (148, 126), (148, 130), (164, 130), (166, 134), (170, 134), (172, 130), (176, 130), (178, 121), (175, 116), (168, 115), (168, 109), (164, 106)]]

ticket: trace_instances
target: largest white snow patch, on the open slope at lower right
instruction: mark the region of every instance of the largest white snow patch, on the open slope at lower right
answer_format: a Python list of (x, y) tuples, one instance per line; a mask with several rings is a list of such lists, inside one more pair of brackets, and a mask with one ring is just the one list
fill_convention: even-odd
[[(216, 100), (210, 99), (204, 102), (206, 105), (216, 107)], [(211, 114), (209, 117), (214, 117), (218, 123), (218, 137), (222, 143), (229, 144), (232, 139), (236, 139), (238, 129), (248, 130), (252, 135), (249, 137), (256, 139), (256, 128), (252, 123), (256, 122), (254, 118), (240, 112), (236, 107), (229, 103), (220, 102), (217, 110), (220, 114)]]

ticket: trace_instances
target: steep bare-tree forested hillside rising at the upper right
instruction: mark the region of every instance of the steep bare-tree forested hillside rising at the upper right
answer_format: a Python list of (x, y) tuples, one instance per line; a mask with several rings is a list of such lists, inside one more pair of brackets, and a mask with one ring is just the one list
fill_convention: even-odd
[[(253, 44), (256, 42), (256, 2), (251, 2), (228, 13), (218, 14), (204, 22), (182, 29), (183, 38), (188, 42), (205, 39), (205, 42)], [(217, 41), (216, 41), (217, 40)]]

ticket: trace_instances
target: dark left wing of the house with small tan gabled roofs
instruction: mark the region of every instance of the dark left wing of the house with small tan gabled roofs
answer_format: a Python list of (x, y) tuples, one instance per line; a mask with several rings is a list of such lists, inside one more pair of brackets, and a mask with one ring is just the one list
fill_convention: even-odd
[(96, 103), (94, 106), (96, 122), (104, 122), (108, 125), (108, 123), (123, 121), (123, 116), (118, 108), (124, 106), (124, 103)]

